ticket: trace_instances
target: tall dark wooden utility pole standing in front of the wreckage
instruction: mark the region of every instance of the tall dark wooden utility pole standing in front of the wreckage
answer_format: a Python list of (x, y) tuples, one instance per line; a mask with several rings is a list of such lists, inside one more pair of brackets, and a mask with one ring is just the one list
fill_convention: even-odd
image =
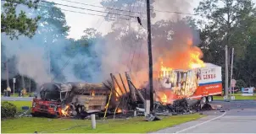
[(153, 111), (153, 60), (151, 46), (151, 20), (150, 20), (150, 3), (147, 0), (147, 47), (148, 47), (148, 64), (149, 64), (149, 91), (150, 91), (150, 111)]

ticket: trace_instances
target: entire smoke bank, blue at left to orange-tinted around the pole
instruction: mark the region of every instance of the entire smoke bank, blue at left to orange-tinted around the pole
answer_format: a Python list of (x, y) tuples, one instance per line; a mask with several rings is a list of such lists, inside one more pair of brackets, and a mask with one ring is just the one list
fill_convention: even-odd
[[(179, 8), (178, 11), (184, 12), (183, 9), (189, 6), (180, 2), (170, 3), (167, 0), (165, 2), (166, 10), (170, 4), (175, 7), (174, 10), (177, 11)], [(158, 6), (157, 1), (153, 6)], [(142, 7), (142, 3), (138, 4), (138, 7)], [(138, 10), (142, 9), (138, 8)], [(159, 20), (156, 17), (154, 21), (156, 22), (152, 25), (154, 71), (159, 71), (157, 66), (160, 59), (163, 59), (166, 66), (185, 67), (183, 65), (186, 65), (189, 59), (180, 60), (180, 58), (186, 57), (187, 51), (200, 53), (197, 47), (192, 46), (198, 44), (198, 32), (190, 28), (185, 20), (172, 17)], [(79, 45), (81, 43), (79, 41), (74, 45), (74, 40), (65, 38), (48, 41), (54, 34), (58, 34), (58, 30), (55, 30), (55, 26), (51, 24), (47, 25), (47, 29), (53, 29), (51, 32), (45, 32), (46, 27), (39, 26), (32, 39), (19, 37), (19, 40), (9, 40), (6, 35), (1, 35), (2, 45), (6, 49), (7, 58), (16, 57), (12, 65), (16, 68), (16, 72), (35, 79), (39, 84), (50, 82), (53, 78), (54, 81), (59, 82), (101, 83), (109, 78), (109, 73), (117, 75), (120, 72), (125, 78), (124, 72), (129, 72), (136, 86), (140, 86), (148, 80), (147, 32), (144, 29), (147, 23), (142, 19), (142, 28), (134, 22), (131, 22), (131, 27), (127, 21), (122, 22), (115, 22), (112, 25), (113, 31), (104, 35), (103, 40), (94, 40), (87, 47)], [(70, 50), (70, 46), (74, 46), (74, 49)], [(51, 62), (48, 61), (49, 51)], [(51, 67), (50, 73), (49, 67)]]

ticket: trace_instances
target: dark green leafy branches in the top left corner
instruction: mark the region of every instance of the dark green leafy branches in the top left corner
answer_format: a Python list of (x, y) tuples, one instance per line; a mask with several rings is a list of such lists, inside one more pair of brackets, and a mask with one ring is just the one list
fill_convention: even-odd
[(37, 8), (39, 0), (34, 2), (29, 0), (5, 0), (3, 4), (3, 12), (1, 13), (1, 33), (9, 35), (10, 39), (18, 39), (19, 35), (32, 37), (36, 33), (37, 22), (40, 16), (34, 19), (29, 18), (26, 13), (21, 10), (16, 13), (19, 5), (25, 5), (28, 8)]

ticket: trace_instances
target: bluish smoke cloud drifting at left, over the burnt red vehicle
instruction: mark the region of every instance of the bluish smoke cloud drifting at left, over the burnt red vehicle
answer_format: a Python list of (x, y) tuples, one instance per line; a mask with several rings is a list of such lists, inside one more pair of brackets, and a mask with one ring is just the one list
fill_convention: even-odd
[[(32, 12), (25, 7), (18, 7), (17, 11), (20, 10), (25, 10), (31, 17), (38, 15), (37, 11)], [(53, 35), (58, 37), (54, 39)], [(39, 85), (51, 81), (92, 82), (90, 77), (92, 68), (95, 68), (95, 64), (91, 63), (92, 56), (88, 56), (86, 51), (76, 51), (81, 49), (81, 44), (74, 44), (74, 41), (59, 35), (61, 31), (53, 24), (47, 23), (45, 18), (39, 22), (36, 35), (31, 39), (19, 36), (18, 40), (10, 40), (7, 35), (2, 34), (2, 60), (9, 61), (8, 78), (21, 74), (34, 79)], [(76, 47), (75, 51), (72, 47)], [(5, 79), (6, 68), (3, 62), (2, 72), (2, 79)]]

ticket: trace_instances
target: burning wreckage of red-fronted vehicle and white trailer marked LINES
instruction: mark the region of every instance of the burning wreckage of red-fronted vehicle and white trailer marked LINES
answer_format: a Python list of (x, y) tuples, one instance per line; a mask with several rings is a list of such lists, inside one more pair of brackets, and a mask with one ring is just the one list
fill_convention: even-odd
[[(100, 117), (145, 115), (149, 85), (140, 88), (110, 74), (103, 83), (45, 83), (40, 96), (33, 99), (31, 115), (74, 116), (84, 119), (91, 114)], [(198, 112), (202, 104), (221, 94), (221, 67), (200, 67), (191, 70), (172, 70), (162, 67), (154, 74), (155, 115), (177, 115)], [(120, 84), (121, 83), (121, 84)]]

